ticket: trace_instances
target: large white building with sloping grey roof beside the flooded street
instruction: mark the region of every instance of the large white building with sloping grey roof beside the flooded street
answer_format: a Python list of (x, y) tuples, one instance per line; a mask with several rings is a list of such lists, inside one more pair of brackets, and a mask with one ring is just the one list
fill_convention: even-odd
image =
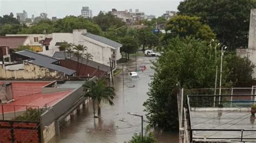
[(86, 30), (73, 30), (72, 33), (52, 33), (52, 41), (50, 47), (59, 51), (59, 46), (63, 42), (68, 42), (75, 45), (83, 45), (86, 47), (86, 52), (93, 56), (93, 61), (110, 66), (112, 62), (113, 70), (116, 69), (117, 60), (122, 58), (120, 47), (122, 44), (112, 41), (99, 35), (87, 33)]

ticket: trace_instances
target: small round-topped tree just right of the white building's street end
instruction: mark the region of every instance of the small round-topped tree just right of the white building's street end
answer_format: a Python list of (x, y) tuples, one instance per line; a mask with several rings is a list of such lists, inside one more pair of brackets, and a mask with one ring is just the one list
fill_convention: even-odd
[(133, 37), (120, 38), (120, 43), (123, 45), (120, 48), (120, 52), (125, 53), (125, 60), (127, 62), (127, 55), (129, 60), (129, 54), (135, 53), (139, 47), (138, 41)]

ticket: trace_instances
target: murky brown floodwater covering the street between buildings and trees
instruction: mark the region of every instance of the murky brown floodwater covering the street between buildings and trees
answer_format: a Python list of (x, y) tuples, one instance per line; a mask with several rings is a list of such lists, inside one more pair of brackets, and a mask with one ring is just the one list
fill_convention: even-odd
[[(114, 106), (102, 103), (102, 118), (93, 118), (92, 103), (82, 113), (60, 128), (60, 135), (50, 142), (124, 142), (134, 133), (141, 132), (141, 118), (127, 112), (143, 115), (146, 119), (143, 103), (148, 98), (149, 83), (154, 74), (151, 60), (154, 57), (139, 56), (137, 67), (145, 65), (147, 69), (139, 73), (139, 78), (131, 78), (128, 73), (135, 69), (135, 61), (124, 65), (124, 86), (122, 72), (114, 76), (116, 97)], [(122, 68), (122, 65), (119, 65)], [(133, 87), (134, 85), (134, 87)], [(97, 106), (96, 106), (97, 114)], [(144, 132), (147, 123), (144, 122)], [(178, 142), (178, 133), (154, 131), (158, 142)]]

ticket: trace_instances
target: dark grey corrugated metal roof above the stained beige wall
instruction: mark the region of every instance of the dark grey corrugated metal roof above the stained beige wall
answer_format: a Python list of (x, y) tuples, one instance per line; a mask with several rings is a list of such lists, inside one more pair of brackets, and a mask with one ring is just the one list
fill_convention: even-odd
[(50, 68), (53, 70), (57, 70), (57, 71), (65, 73), (66, 75), (72, 75), (72, 74), (76, 73), (76, 70), (68, 69), (68, 68), (53, 64), (54, 62), (57, 62), (59, 60), (56, 58), (52, 58), (51, 56), (47, 56), (44, 54), (39, 54), (39, 53), (35, 53), (32, 51), (27, 51), (27, 50), (16, 52), (16, 53), (35, 59), (32, 61), (29, 61), (30, 63), (33, 63), (35, 65)]

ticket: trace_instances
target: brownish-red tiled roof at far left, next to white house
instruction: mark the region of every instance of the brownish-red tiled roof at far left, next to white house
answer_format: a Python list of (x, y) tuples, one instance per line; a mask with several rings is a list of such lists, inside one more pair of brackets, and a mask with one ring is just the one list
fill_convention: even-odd
[(0, 36), (0, 46), (8, 46), (10, 49), (18, 48), (24, 44), (27, 36)]

